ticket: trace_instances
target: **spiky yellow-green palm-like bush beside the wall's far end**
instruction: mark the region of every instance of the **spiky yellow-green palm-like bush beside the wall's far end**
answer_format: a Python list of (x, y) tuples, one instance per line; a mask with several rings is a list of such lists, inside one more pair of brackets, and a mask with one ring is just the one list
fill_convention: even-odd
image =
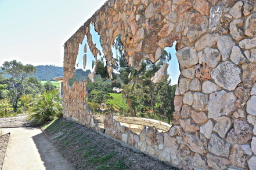
[(56, 90), (46, 91), (35, 98), (29, 119), (39, 125), (55, 119), (56, 116), (62, 116), (62, 103), (56, 94)]

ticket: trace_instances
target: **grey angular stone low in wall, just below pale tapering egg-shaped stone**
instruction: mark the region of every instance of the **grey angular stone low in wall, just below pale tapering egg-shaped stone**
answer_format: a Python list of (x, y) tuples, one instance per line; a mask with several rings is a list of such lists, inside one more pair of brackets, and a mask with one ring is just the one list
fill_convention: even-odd
[(223, 141), (216, 134), (211, 134), (210, 142), (208, 144), (208, 149), (211, 153), (214, 153), (217, 156), (228, 157), (230, 146), (230, 143)]

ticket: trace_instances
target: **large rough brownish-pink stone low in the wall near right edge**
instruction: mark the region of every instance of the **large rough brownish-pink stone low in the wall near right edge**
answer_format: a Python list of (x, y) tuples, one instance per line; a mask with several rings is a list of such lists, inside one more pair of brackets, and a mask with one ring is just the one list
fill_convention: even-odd
[(234, 128), (229, 131), (226, 140), (229, 143), (245, 144), (253, 138), (253, 128), (247, 121), (235, 119)]

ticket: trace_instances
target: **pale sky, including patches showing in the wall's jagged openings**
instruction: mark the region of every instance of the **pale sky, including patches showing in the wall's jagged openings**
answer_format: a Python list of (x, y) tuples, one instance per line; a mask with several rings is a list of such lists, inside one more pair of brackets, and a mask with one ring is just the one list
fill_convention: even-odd
[[(106, 0), (0, 0), (0, 65), (17, 60), (23, 64), (63, 66), (64, 43)], [(93, 43), (99, 38), (91, 32)], [(78, 54), (84, 55), (86, 40)], [(100, 50), (100, 45), (98, 49)], [(87, 47), (89, 51), (89, 47)], [(168, 73), (178, 82), (179, 66), (175, 44), (165, 48), (172, 54)], [(93, 56), (88, 55), (86, 68)], [(80, 61), (80, 64), (82, 62)]]

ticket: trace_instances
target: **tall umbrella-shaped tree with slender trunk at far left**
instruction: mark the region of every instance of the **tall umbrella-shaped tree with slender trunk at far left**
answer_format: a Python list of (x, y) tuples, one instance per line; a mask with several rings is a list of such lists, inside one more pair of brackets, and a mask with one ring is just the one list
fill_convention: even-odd
[(23, 82), (24, 79), (28, 76), (34, 75), (37, 71), (35, 66), (31, 64), (23, 65), (21, 62), (17, 62), (16, 60), (13, 61), (5, 61), (1, 66), (1, 69), (4, 73), (9, 74), (12, 76), (12, 88), (15, 93), (15, 97), (13, 99), (13, 108), (17, 110), (17, 100), (18, 95), (23, 92)]

